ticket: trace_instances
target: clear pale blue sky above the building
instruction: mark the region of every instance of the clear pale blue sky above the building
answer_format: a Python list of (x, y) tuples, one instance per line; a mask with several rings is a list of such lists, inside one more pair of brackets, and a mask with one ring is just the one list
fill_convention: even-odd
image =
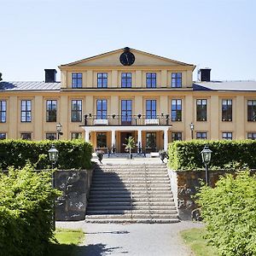
[(255, 14), (255, 0), (0, 0), (0, 72), (41, 81), (44, 68), (129, 46), (255, 80)]

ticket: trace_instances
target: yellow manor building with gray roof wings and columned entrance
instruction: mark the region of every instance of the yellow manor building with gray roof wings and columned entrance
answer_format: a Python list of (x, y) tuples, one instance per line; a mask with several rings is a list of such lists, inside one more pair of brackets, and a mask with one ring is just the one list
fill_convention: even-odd
[(0, 137), (83, 137), (94, 148), (154, 152), (174, 140), (254, 139), (256, 82), (211, 81), (211, 69), (117, 49), (45, 69), (44, 82), (0, 82)]

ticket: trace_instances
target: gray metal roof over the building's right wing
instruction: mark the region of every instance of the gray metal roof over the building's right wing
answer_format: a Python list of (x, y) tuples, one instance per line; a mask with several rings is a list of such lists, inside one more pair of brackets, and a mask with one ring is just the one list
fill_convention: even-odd
[(256, 81), (211, 81), (195, 82), (193, 90), (256, 91)]

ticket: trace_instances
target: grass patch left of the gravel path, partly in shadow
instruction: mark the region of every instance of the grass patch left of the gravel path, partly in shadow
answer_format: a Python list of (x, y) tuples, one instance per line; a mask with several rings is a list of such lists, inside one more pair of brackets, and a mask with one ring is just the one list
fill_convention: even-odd
[(74, 256), (76, 249), (84, 240), (84, 232), (82, 230), (55, 230), (56, 243), (53, 241), (49, 246), (49, 253), (45, 256)]

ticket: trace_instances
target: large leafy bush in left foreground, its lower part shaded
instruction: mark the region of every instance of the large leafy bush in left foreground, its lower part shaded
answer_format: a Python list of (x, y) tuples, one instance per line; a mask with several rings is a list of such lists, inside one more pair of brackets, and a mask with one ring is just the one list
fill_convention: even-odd
[(51, 172), (0, 172), (0, 255), (41, 256), (53, 237)]

